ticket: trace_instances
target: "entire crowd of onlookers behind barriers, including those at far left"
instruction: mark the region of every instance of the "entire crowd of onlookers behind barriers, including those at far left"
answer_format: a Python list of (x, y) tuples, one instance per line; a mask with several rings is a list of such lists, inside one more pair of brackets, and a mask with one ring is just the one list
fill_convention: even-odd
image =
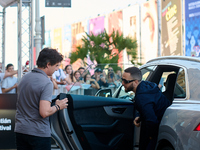
[[(17, 93), (17, 70), (14, 70), (13, 64), (7, 64), (5, 73), (1, 73), (0, 93)], [(102, 87), (118, 87), (121, 83), (122, 72), (120, 69), (114, 71), (112, 67), (101, 69), (95, 68), (94, 74), (91, 74), (85, 67), (73, 70), (72, 65), (59, 68), (51, 76), (48, 76), (53, 83), (53, 88), (58, 89), (58, 85), (77, 85), (87, 84), (89, 88), (100, 89)]]

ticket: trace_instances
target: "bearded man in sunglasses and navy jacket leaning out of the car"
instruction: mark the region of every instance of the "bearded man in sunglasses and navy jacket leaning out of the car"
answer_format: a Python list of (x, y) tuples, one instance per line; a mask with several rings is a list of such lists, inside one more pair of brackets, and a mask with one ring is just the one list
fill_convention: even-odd
[(126, 92), (135, 93), (135, 108), (139, 112), (139, 117), (136, 117), (133, 122), (136, 127), (140, 127), (141, 124), (139, 150), (154, 150), (160, 121), (171, 103), (162, 94), (157, 84), (142, 81), (142, 73), (136, 67), (124, 70), (122, 85)]

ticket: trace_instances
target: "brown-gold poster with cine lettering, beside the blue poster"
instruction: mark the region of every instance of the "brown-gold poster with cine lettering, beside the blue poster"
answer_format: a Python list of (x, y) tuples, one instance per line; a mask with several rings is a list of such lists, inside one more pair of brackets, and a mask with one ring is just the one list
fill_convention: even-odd
[(161, 55), (183, 55), (181, 0), (161, 1)]

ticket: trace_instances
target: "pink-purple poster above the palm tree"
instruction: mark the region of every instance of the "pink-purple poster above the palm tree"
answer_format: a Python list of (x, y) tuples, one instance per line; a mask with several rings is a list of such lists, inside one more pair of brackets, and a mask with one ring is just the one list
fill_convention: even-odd
[(104, 31), (104, 16), (90, 19), (89, 21), (89, 33), (98, 35)]

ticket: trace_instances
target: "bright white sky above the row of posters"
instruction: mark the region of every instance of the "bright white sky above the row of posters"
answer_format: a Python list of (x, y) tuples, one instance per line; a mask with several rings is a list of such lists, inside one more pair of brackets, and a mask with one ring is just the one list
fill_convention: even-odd
[[(54, 28), (61, 24), (71, 24), (98, 14), (108, 14), (146, 0), (72, 0), (71, 8), (45, 7), (45, 0), (40, 0), (40, 15), (45, 15), (46, 28)], [(48, 25), (47, 25), (48, 24)]]

